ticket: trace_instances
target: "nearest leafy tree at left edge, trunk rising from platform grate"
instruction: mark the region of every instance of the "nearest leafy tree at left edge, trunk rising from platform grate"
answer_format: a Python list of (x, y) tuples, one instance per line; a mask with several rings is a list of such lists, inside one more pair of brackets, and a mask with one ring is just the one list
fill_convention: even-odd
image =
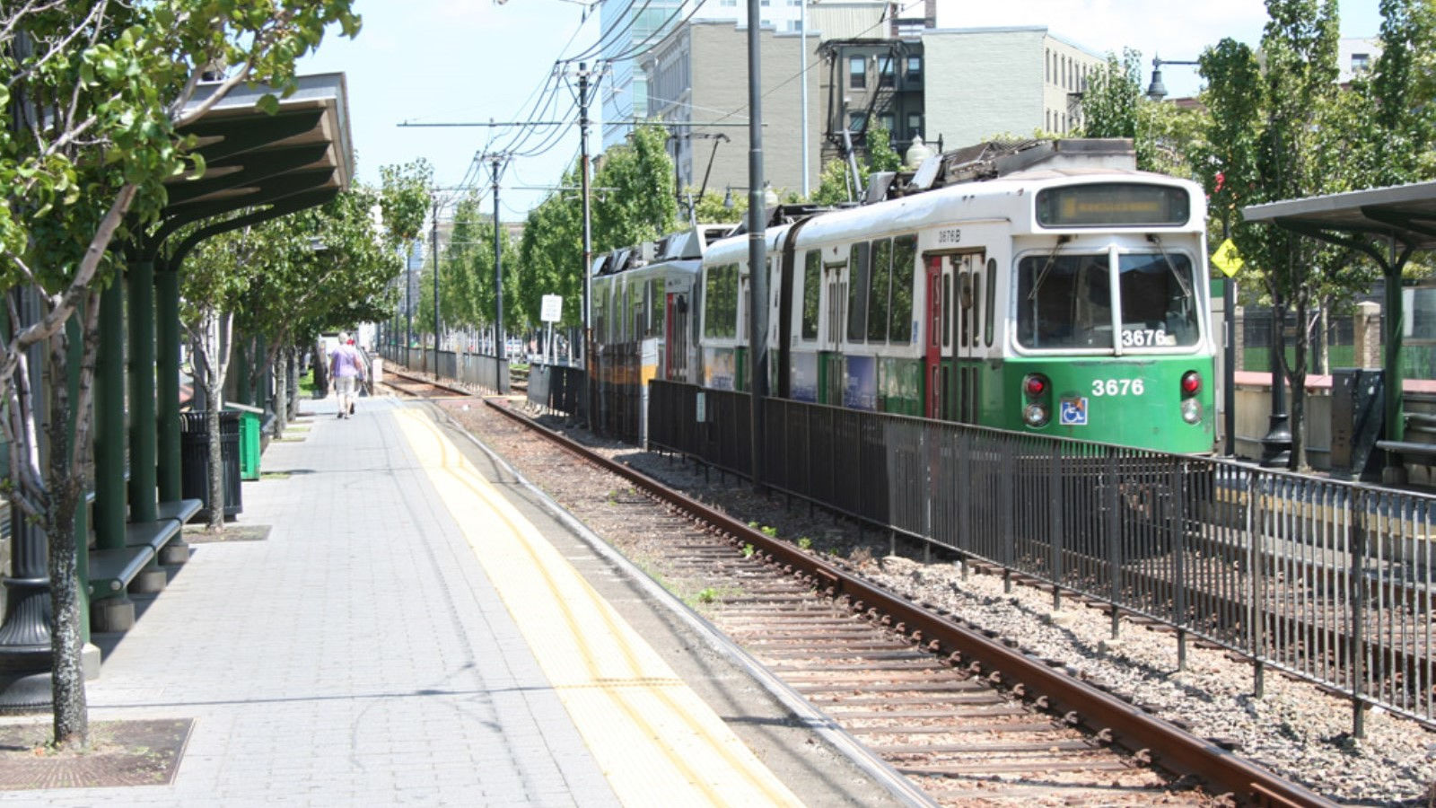
[[(39, 302), (20, 319), (11, 295), (0, 355), (10, 404), (9, 496), (49, 541), (53, 608), (55, 742), (83, 746), (89, 723), (80, 673), (75, 510), (89, 463), (89, 408), (98, 345), (98, 290), (113, 282), (115, 239), (135, 242), (165, 203), (162, 183), (201, 167), (192, 141), (175, 132), (236, 86), (257, 82), (286, 92), (294, 60), (337, 22), (346, 36), (359, 19), (348, 0), (149, 0), (6, 3), (0, 6), (0, 283)], [(202, 104), (190, 105), (207, 69), (228, 65)], [(274, 96), (261, 104), (277, 106)], [(32, 346), (43, 346), (50, 378), (69, 374), (65, 325), (83, 308), (79, 397), (50, 385), (49, 417), (33, 405), (24, 378)], [(47, 420), (42, 472), (37, 423)], [(66, 428), (75, 423), (73, 434)]]

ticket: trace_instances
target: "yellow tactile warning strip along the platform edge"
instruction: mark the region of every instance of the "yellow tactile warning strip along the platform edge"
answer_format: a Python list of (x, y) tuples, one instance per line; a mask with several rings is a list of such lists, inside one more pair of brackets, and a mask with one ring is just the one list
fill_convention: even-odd
[(426, 414), (395, 418), (625, 805), (801, 805)]

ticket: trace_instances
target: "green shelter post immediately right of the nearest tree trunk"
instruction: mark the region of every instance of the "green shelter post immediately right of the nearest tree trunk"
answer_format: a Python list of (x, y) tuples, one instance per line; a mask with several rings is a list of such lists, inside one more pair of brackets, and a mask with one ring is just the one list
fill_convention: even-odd
[(99, 303), (95, 361), (95, 546), (125, 546), (125, 288), (111, 283)]

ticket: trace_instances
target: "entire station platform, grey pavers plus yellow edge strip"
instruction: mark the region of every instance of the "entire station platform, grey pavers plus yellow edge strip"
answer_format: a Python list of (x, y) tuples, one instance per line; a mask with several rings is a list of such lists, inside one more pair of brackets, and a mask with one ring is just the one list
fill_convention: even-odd
[(88, 684), (92, 723), (192, 719), (172, 782), (0, 801), (910, 802), (431, 407), (302, 410), (244, 483), (267, 538), (195, 542)]

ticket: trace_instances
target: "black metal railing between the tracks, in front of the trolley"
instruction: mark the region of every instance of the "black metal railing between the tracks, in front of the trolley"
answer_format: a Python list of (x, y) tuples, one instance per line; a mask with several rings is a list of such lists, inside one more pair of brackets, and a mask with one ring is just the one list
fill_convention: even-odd
[[(701, 404), (699, 404), (701, 401)], [(1433, 723), (1436, 497), (768, 398), (764, 483)], [(649, 446), (748, 474), (750, 398), (651, 382)], [(704, 416), (699, 420), (699, 410)]]

